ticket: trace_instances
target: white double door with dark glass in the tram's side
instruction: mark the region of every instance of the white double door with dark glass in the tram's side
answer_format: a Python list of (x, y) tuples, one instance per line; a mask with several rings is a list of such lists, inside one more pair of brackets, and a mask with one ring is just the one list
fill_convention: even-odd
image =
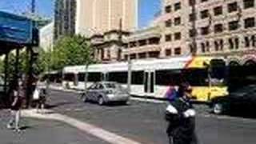
[(154, 93), (155, 72), (154, 70), (144, 71), (144, 93)]

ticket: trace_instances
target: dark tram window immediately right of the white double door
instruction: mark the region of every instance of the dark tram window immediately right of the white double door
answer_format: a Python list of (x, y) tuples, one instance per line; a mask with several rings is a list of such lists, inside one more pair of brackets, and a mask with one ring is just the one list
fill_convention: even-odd
[(156, 85), (175, 86), (182, 82), (181, 70), (157, 70)]

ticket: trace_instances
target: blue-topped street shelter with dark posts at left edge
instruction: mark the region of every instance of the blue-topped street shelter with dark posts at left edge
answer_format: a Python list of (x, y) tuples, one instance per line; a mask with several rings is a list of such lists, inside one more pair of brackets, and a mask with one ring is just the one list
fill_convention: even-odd
[[(2, 91), (2, 98), (0, 101), (5, 103), (8, 101), (8, 85), (9, 80), (9, 54), (11, 51), (15, 51), (15, 64), (14, 64), (14, 76), (17, 81), (18, 75), (20, 74), (18, 65), (19, 65), (19, 53), (20, 50), (26, 49), (28, 54), (28, 73), (26, 76), (27, 79), (32, 78), (32, 69), (33, 69), (33, 55), (34, 55), (34, 46), (38, 46), (38, 30), (34, 26), (34, 22), (22, 16), (15, 14), (9, 14), (6, 12), (0, 11), (0, 56), (4, 57), (4, 85)], [(32, 84), (31, 82), (26, 82), (26, 87)], [(26, 104), (28, 104), (31, 95), (31, 90), (26, 89)], [(28, 106), (28, 105), (26, 105)]]

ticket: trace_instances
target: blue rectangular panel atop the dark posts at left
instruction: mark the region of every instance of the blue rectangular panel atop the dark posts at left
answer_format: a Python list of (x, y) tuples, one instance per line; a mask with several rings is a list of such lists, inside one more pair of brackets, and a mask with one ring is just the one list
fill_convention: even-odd
[(0, 11), (0, 41), (32, 44), (33, 22), (29, 18)]

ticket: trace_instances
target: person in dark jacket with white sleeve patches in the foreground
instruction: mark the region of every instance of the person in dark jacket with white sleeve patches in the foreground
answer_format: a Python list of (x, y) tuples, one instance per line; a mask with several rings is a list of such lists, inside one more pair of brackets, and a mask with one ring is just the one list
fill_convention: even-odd
[(176, 98), (169, 99), (166, 108), (166, 133), (170, 144), (197, 144), (195, 134), (195, 110), (190, 102), (192, 89), (186, 83), (178, 86)]

